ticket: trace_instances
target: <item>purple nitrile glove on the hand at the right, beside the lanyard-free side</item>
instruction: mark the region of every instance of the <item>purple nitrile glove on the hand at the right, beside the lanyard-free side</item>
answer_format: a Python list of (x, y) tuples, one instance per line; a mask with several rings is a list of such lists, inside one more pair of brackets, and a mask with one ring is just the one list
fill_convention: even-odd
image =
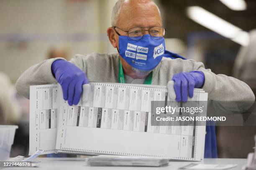
[(177, 102), (186, 102), (187, 96), (194, 95), (194, 88), (202, 88), (205, 75), (202, 71), (180, 72), (172, 77)]

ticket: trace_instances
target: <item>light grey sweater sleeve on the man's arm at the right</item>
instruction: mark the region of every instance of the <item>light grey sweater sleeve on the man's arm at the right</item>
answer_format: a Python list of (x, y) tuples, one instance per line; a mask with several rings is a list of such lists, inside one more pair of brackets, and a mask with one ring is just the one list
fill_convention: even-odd
[(202, 71), (205, 75), (203, 89), (208, 98), (215, 101), (253, 102), (255, 96), (251, 88), (241, 80), (223, 74), (216, 75), (210, 69), (205, 69), (202, 62), (195, 62), (194, 70)]

